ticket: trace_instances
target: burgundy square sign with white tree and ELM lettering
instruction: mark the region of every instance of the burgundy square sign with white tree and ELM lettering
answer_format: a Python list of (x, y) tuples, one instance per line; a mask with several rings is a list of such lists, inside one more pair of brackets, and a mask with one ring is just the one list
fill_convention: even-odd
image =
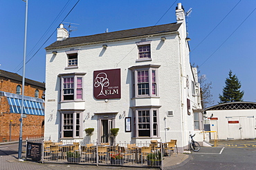
[(121, 70), (93, 72), (93, 96), (96, 99), (121, 98)]

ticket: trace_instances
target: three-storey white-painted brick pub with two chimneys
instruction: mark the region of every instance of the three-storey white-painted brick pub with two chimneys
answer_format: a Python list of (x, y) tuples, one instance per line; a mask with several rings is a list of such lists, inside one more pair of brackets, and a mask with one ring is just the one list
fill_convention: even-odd
[[(185, 14), (176, 23), (68, 38), (60, 26), (46, 47), (45, 138), (109, 141), (178, 140), (201, 130), (196, 68), (190, 65)], [(195, 115), (195, 120), (194, 120)]]

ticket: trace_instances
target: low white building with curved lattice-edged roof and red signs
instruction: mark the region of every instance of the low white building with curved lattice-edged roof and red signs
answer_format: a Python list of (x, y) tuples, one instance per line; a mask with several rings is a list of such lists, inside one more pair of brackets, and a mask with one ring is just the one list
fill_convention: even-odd
[(222, 103), (208, 107), (205, 111), (210, 120), (210, 130), (217, 131), (219, 140), (256, 138), (256, 103)]

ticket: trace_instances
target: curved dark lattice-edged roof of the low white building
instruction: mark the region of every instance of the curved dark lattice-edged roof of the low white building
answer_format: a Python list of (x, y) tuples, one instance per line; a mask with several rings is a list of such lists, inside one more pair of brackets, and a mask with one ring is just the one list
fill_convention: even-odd
[(221, 103), (219, 105), (214, 105), (211, 107), (205, 108), (208, 110), (234, 110), (234, 109), (256, 109), (255, 102), (230, 102), (230, 103)]

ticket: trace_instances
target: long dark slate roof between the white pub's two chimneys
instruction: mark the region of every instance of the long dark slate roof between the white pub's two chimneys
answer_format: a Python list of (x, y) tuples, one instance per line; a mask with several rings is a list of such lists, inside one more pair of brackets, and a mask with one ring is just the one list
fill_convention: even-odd
[(124, 39), (134, 36), (143, 36), (143, 35), (150, 35), (150, 34), (159, 34), (165, 32), (175, 32), (179, 29), (181, 23), (168, 23), (164, 25), (155, 25), (145, 28), (134, 28), (130, 30), (120, 30), (116, 32), (105, 32), (102, 34), (94, 34), (89, 36), (77, 36), (77, 37), (70, 37), (65, 39), (64, 41), (55, 41), (48, 47), (46, 50), (55, 47), (64, 47), (66, 45), (79, 45), (83, 43), (94, 43), (98, 41), (109, 41), (114, 39)]

